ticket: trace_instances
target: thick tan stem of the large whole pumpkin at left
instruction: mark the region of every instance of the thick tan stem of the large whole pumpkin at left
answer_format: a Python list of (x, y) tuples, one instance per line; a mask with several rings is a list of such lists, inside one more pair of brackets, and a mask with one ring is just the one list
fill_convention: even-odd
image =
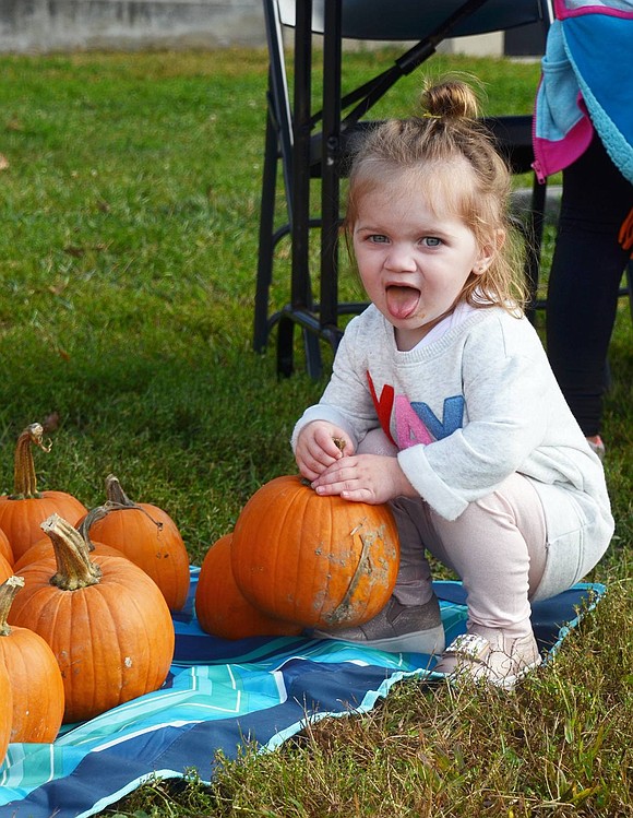
[(57, 560), (51, 585), (62, 591), (76, 591), (100, 581), (101, 569), (89, 558), (88, 544), (81, 532), (59, 514), (51, 514), (40, 527), (50, 537)]

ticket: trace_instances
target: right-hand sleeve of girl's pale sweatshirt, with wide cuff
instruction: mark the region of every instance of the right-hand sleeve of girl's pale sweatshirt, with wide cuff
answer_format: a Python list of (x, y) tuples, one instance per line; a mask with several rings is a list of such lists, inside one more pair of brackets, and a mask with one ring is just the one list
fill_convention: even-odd
[(532, 328), (518, 333), (517, 343), (501, 323), (488, 324), (466, 344), (462, 366), (463, 427), (398, 453), (414, 488), (447, 520), (522, 471), (544, 440), (552, 399), (560, 401)]

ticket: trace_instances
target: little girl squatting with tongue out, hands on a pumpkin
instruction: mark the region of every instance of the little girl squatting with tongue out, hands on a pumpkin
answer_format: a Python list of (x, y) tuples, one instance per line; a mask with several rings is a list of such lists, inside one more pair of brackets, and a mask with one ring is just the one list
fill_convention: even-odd
[[(441, 653), (437, 671), (511, 688), (540, 662), (530, 601), (582, 579), (613, 521), (600, 461), (521, 309), (510, 175), (476, 97), (449, 81), (422, 104), (355, 157), (345, 229), (372, 304), (292, 435), (319, 494), (391, 503), (398, 578), (374, 619), (315, 636)], [(446, 649), (426, 550), (467, 592), (467, 633)]]

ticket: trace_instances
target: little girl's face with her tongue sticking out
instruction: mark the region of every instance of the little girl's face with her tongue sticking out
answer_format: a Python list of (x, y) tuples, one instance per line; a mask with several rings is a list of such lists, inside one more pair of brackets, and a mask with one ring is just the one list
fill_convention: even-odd
[[(403, 183), (397, 174), (365, 193), (353, 225), (354, 251), (369, 298), (393, 324), (398, 349), (411, 349), (445, 316), (471, 273), (482, 273), (491, 248), (442, 202)], [(437, 215), (442, 214), (442, 215)]]

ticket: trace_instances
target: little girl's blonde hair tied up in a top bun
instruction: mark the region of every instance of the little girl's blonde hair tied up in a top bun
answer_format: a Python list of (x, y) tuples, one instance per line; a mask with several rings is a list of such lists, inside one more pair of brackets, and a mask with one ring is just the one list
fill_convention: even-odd
[[(428, 87), (422, 115), (391, 119), (372, 127), (357, 146), (349, 174), (344, 229), (348, 246), (360, 200), (377, 188), (398, 182), (427, 193), (450, 209), (474, 233), (480, 248), (497, 248), (483, 273), (471, 274), (462, 299), (474, 307), (498, 304), (522, 313), (528, 292), (523, 274), (523, 247), (509, 218), (511, 174), (492, 138), (477, 120), (478, 102), (461, 80)], [(470, 171), (468, 171), (468, 168)]]

